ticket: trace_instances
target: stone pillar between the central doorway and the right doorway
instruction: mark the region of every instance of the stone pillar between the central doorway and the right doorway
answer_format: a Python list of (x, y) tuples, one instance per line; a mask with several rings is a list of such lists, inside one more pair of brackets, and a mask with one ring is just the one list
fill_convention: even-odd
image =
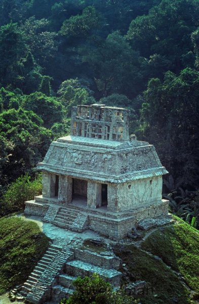
[(90, 208), (98, 208), (102, 205), (102, 184), (88, 180), (87, 188), (87, 206)]

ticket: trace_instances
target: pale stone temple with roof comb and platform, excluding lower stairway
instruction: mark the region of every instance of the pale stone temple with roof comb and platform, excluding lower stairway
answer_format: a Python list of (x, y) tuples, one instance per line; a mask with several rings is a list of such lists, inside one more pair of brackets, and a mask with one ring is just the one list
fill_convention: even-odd
[(73, 107), (71, 134), (52, 142), (37, 168), (42, 196), (26, 202), (25, 213), (57, 226), (121, 239), (139, 220), (168, 214), (168, 172), (153, 145), (129, 136), (128, 109)]

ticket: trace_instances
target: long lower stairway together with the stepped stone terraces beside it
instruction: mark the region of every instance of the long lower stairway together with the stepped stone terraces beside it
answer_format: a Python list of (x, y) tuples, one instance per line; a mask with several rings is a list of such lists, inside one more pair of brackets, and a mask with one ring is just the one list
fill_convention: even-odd
[(62, 248), (51, 245), (21, 289), (25, 302), (58, 303), (73, 292), (72, 282), (77, 277), (99, 274), (114, 288), (119, 288), (122, 273), (118, 272), (121, 260), (112, 252), (92, 252), (79, 248)]

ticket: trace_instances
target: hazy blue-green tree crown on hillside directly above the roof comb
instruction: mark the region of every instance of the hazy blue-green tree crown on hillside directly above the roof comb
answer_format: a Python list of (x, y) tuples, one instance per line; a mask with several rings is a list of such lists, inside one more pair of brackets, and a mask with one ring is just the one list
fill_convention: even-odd
[(94, 72), (94, 80), (101, 96), (122, 93), (135, 96), (142, 75), (139, 71), (138, 53), (131, 49), (125, 37), (115, 31), (104, 40), (92, 37), (89, 46), (81, 51), (83, 61)]

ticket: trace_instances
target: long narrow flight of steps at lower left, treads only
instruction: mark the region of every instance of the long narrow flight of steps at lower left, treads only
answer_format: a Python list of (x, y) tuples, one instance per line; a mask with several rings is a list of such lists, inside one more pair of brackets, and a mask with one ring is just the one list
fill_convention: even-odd
[(33, 272), (29, 275), (26, 282), (21, 288), (21, 294), (27, 296), (31, 289), (36, 285), (41, 275), (45, 272), (51, 261), (55, 258), (57, 253), (61, 250), (61, 247), (51, 245), (41, 260), (38, 261)]

